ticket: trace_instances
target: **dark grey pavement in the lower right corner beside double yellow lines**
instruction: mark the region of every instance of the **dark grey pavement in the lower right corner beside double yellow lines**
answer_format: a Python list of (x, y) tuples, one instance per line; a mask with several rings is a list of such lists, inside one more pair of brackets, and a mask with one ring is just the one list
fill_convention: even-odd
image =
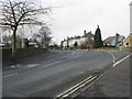
[[(130, 91), (130, 66), (132, 55), (111, 68), (90, 88), (82, 91), (78, 97), (122, 97), (128, 99)], [(117, 99), (117, 98), (116, 98)]]

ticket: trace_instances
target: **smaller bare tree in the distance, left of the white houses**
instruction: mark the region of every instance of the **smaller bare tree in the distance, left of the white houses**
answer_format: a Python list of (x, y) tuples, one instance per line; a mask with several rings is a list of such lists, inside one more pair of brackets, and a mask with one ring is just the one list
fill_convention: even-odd
[(41, 42), (42, 42), (42, 46), (47, 48), (52, 37), (50, 36), (52, 34), (51, 29), (48, 26), (42, 26), (40, 29), (40, 34), (41, 34)]

